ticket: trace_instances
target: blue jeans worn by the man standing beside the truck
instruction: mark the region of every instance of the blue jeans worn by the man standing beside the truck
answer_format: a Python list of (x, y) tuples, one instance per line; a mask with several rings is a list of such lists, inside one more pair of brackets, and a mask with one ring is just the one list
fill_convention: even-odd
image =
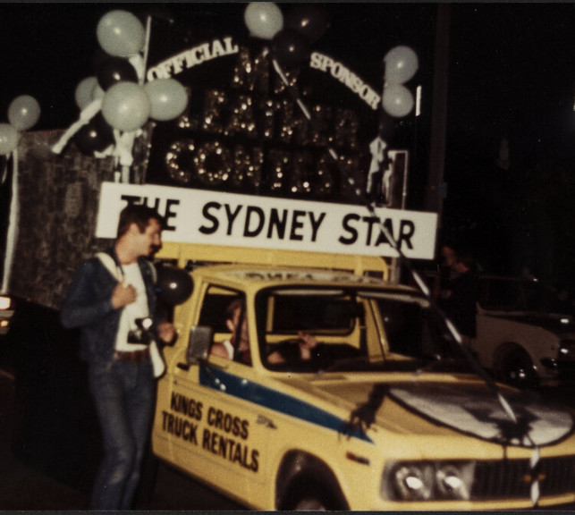
[(156, 400), (151, 361), (91, 363), (89, 387), (104, 443), (91, 509), (131, 510)]

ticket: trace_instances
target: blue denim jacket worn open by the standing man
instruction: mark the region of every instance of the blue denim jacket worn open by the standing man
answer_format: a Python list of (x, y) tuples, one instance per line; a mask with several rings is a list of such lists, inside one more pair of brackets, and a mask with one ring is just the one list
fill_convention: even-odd
[[(121, 269), (120, 261), (111, 249), (108, 254)], [(138, 265), (146, 286), (150, 317), (156, 320), (156, 292), (154, 272), (146, 258), (139, 258)], [(110, 361), (122, 309), (112, 306), (112, 293), (118, 280), (107, 270), (102, 261), (89, 258), (76, 272), (68, 289), (60, 320), (65, 328), (80, 327), (80, 358), (84, 360)]]

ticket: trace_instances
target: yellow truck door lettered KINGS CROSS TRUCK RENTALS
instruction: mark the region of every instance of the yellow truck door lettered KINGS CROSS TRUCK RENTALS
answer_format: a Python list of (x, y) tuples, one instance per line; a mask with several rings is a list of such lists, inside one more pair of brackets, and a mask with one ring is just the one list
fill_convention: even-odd
[[(227, 305), (237, 299), (242, 300), (237, 291), (214, 287), (206, 291), (198, 325), (212, 327), (215, 344), (234, 345), (236, 335), (230, 333), (225, 318)], [(169, 389), (158, 392), (169, 395), (158, 415), (162, 434), (169, 440), (170, 460), (236, 498), (261, 492), (266, 438), (258, 408), (250, 401), (253, 368), (232, 356), (210, 355), (207, 363), (191, 366), (185, 354), (179, 359), (169, 367)]]

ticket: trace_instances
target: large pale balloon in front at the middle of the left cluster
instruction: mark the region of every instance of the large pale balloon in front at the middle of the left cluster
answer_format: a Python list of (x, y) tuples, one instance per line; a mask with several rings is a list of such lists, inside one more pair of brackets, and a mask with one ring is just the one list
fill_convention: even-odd
[(102, 99), (106, 122), (118, 131), (132, 132), (148, 121), (151, 105), (148, 93), (140, 84), (118, 82)]

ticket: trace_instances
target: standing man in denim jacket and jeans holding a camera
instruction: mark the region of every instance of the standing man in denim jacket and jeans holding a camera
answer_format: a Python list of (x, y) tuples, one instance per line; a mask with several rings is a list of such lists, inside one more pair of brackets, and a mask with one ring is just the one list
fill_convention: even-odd
[(130, 510), (140, 481), (165, 364), (156, 340), (173, 343), (173, 325), (156, 317), (155, 268), (163, 219), (130, 205), (119, 219), (114, 247), (85, 261), (63, 302), (64, 327), (80, 327), (80, 353), (89, 362), (89, 388), (102, 430), (104, 459), (92, 510)]

